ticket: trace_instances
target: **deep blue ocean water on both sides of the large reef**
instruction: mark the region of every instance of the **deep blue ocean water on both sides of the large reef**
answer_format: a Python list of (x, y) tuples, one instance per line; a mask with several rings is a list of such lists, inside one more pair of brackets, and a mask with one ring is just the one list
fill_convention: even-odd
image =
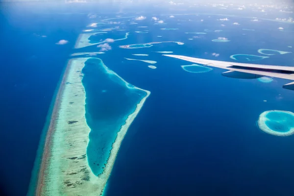
[[(41, 131), (68, 55), (98, 51), (96, 46), (73, 49), (81, 30), (95, 22), (87, 17), (94, 12), (93, 7), (49, 4), (45, 9), (41, 4), (22, 5), (1, 4), (0, 15), (3, 27), (0, 40), (5, 48), (0, 54), (4, 70), (0, 101), (3, 114), (0, 154), (4, 161), (0, 162), (0, 182), (8, 195), (16, 196), (27, 192)], [(137, 8), (123, 12), (126, 16), (134, 16)], [(127, 82), (151, 92), (123, 140), (107, 184), (107, 195), (294, 195), (294, 138), (268, 135), (256, 125), (259, 115), (266, 110), (294, 111), (294, 92), (282, 89), (282, 85), (290, 81), (274, 78), (271, 83), (261, 83), (227, 78), (221, 76), (225, 72), (221, 69), (188, 73), (180, 66), (192, 63), (153, 52), (173, 51), (178, 55), (233, 61), (229, 56), (237, 53), (263, 56), (258, 49), (294, 52), (287, 47), (294, 43), (293, 33), (273, 31), (283, 25), (275, 22), (262, 21), (260, 25), (249, 19), (230, 18), (223, 23), (226, 26), (221, 27), (217, 19), (224, 18), (222, 16), (169, 19), (158, 14), (183, 12), (152, 9), (154, 14), (151, 15), (147, 13), (151, 9), (145, 8), (146, 13), (138, 15), (149, 19), (155, 15), (167, 25), (140, 21), (138, 26), (147, 25), (149, 30), (149, 33), (140, 34), (134, 33), (139, 29), (135, 25), (126, 24), (129, 30), (125, 32), (130, 32), (128, 39), (111, 43), (112, 50), (97, 56)], [(102, 16), (115, 17), (116, 9)], [(205, 23), (191, 25), (189, 19), (203, 19)], [(231, 25), (233, 22), (241, 25)], [(223, 31), (198, 35), (200, 38), (194, 40), (188, 40), (194, 35), (184, 33), (202, 32), (203, 29)], [(109, 37), (110, 34), (102, 36), (116, 38)], [(231, 42), (211, 42), (218, 37), (228, 37)], [(69, 40), (69, 44), (55, 45), (60, 39)], [(185, 45), (165, 43), (145, 49), (118, 48), (157, 41), (179, 41)], [(133, 56), (132, 53), (149, 56)], [(212, 53), (220, 56), (213, 57)], [(149, 69), (147, 63), (128, 61), (124, 57), (155, 60), (157, 69)], [(292, 62), (293, 54), (254, 61), (287, 66)]]

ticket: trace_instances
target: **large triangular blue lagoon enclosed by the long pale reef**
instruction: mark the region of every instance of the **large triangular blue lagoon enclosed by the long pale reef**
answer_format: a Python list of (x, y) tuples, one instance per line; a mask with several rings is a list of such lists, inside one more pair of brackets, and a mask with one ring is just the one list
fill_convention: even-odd
[[(117, 132), (146, 92), (109, 73), (98, 58), (85, 62), (82, 83), (86, 92), (86, 120), (91, 128), (87, 157), (95, 175), (103, 172)], [(103, 81), (103, 82), (101, 82)]]

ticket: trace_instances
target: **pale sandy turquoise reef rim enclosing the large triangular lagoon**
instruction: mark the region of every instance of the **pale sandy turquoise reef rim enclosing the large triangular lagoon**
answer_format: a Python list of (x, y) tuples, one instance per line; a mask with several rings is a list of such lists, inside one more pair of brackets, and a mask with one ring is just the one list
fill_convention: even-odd
[[(124, 135), (133, 122), (149, 91), (128, 84), (123, 78), (109, 70), (103, 63), (106, 73), (119, 77), (126, 86), (145, 91), (146, 97), (137, 104), (135, 111), (128, 116), (117, 134), (104, 171), (96, 176), (91, 171), (86, 149), (89, 143), (90, 128), (85, 118), (85, 90), (82, 85), (84, 63), (89, 58), (73, 58), (69, 61), (65, 77), (60, 85), (62, 91), (56, 97), (54, 116), (50, 120), (49, 131), (44, 147), (36, 195), (40, 196), (99, 196), (111, 173), (115, 158)], [(103, 82), (103, 81), (101, 81)]]

